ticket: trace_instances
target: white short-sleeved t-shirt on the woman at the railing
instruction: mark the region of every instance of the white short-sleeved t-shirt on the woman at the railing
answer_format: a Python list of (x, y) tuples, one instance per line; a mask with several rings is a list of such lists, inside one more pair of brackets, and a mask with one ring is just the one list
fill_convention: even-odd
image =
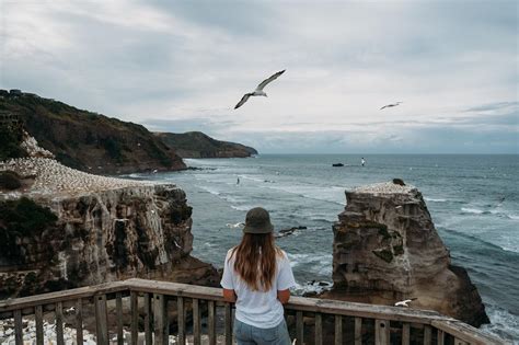
[(284, 319), (282, 304), (277, 299), (277, 291), (289, 289), (296, 285), (287, 254), (281, 251), (282, 257), (276, 255), (275, 283), (270, 290), (253, 291), (234, 271), (234, 257), (229, 260), (231, 252), (232, 250), (227, 252), (220, 285), (224, 289), (237, 292), (237, 319), (258, 329), (277, 326)]

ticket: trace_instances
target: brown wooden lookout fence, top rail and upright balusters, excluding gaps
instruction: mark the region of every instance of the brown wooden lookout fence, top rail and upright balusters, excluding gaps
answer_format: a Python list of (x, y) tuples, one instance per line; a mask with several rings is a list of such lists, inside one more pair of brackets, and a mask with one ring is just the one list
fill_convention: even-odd
[[(111, 297), (107, 295), (111, 295)], [(200, 344), (200, 314), (201, 302), (207, 306), (208, 327), (207, 336), (210, 344), (216, 343), (217, 330), (215, 329), (216, 307), (223, 307), (224, 324), (223, 335), (226, 344), (231, 344), (232, 340), (232, 306), (224, 302), (222, 290), (220, 288), (210, 288), (196, 285), (145, 280), (145, 279), (127, 279), (124, 281), (114, 281), (101, 284), (97, 286), (89, 286), (77, 289), (64, 290), (59, 292), (50, 292), (23, 297), (0, 301), (0, 318), (14, 318), (16, 331), (16, 344), (21, 338), (22, 315), (33, 314), (36, 320), (36, 333), (39, 340), (42, 336), (42, 312), (45, 307), (54, 308), (57, 323), (57, 342), (62, 343), (62, 308), (65, 306), (76, 306), (76, 329), (82, 330), (81, 301), (82, 299), (92, 299), (95, 310), (96, 334), (100, 344), (108, 343), (107, 329), (107, 299), (114, 299), (116, 302), (117, 318), (117, 341), (123, 343), (123, 297), (126, 296), (130, 308), (130, 340), (131, 344), (137, 344), (139, 310), (145, 311), (145, 337), (146, 343), (151, 343), (151, 332), (154, 332), (155, 343), (166, 343), (169, 337), (168, 321), (168, 297), (170, 300), (176, 300), (177, 314), (177, 341), (180, 344), (186, 342), (186, 312), (193, 314), (193, 336), (196, 344)], [(142, 296), (141, 301), (138, 301)], [(145, 303), (143, 306), (140, 303)], [(140, 304), (140, 306), (138, 306)], [(143, 308), (142, 308), (143, 307)], [(335, 344), (346, 342), (343, 326), (346, 324), (343, 318), (350, 318), (354, 327), (350, 333), (353, 342), (362, 343), (365, 330), (372, 330), (376, 344), (389, 345), (393, 343), (392, 336), (397, 333), (402, 344), (413, 343), (413, 330), (418, 330), (422, 334), (423, 344), (447, 344), (447, 337), (453, 340), (455, 344), (476, 344), (493, 345), (505, 344), (501, 340), (486, 334), (471, 325), (452, 318), (445, 317), (436, 311), (417, 310), (407, 308), (396, 308), (388, 306), (374, 306), (365, 303), (354, 303), (337, 300), (291, 297), (290, 302), (285, 304), (288, 314), (295, 317), (293, 334), (303, 343), (305, 321), (308, 315), (312, 317), (313, 338), (304, 338), (307, 343), (323, 344), (325, 320), (334, 320), (332, 331)], [(151, 319), (153, 315), (153, 321)], [(332, 317), (332, 318), (330, 318)], [(328, 318), (328, 319), (325, 319)], [(346, 319), (345, 319), (346, 320)], [(369, 321), (371, 320), (371, 321)], [(367, 323), (364, 323), (367, 322)], [(368, 329), (365, 329), (368, 327)], [(396, 329), (395, 329), (396, 327)], [(416, 335), (414, 335), (416, 336)], [(82, 333), (77, 333), (77, 340), (82, 341)], [(399, 341), (400, 342), (400, 341)]]

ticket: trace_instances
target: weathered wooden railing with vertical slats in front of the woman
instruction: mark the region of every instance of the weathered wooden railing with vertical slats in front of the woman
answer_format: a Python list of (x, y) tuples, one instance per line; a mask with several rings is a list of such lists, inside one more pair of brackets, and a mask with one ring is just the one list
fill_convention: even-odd
[[(291, 297), (285, 311), (296, 344), (505, 344), (434, 311), (302, 297)], [(223, 301), (221, 289), (157, 280), (4, 300), (0, 319), (13, 319), (16, 344), (23, 344), (24, 320), (34, 320), (36, 344), (46, 340), (44, 320), (54, 320), (51, 341), (58, 345), (65, 344), (64, 326), (77, 330), (78, 344), (83, 344), (84, 327), (95, 333), (97, 344), (168, 344), (172, 335), (176, 344), (187, 338), (193, 344), (233, 343), (233, 306)]]

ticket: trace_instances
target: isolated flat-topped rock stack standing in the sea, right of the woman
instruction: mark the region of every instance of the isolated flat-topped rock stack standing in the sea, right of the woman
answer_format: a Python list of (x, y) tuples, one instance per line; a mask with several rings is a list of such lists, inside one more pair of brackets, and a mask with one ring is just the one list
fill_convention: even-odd
[(346, 192), (333, 227), (333, 289), (325, 298), (437, 310), (478, 326), (488, 318), (462, 267), (451, 265), (422, 194), (392, 183)]

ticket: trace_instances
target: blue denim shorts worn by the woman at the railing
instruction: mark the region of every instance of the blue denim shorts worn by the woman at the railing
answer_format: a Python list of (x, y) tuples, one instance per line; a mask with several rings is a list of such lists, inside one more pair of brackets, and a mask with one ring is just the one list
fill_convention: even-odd
[(258, 329), (234, 319), (234, 336), (238, 345), (290, 345), (285, 320), (272, 329)]

